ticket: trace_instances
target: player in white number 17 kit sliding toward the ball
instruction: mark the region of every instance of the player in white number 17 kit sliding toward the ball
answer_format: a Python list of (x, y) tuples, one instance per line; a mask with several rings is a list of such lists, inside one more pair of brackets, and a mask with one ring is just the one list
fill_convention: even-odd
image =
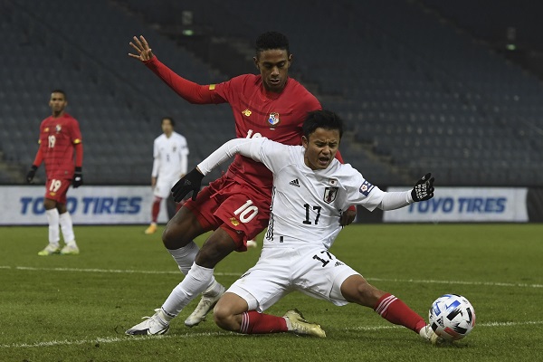
[[(291, 331), (326, 337), (318, 324), (307, 322), (297, 310), (283, 317), (262, 313), (289, 292), (301, 291), (338, 306), (355, 302), (372, 308), (386, 320), (437, 343), (440, 339), (420, 315), (394, 295), (370, 285), (329, 252), (348, 205), (394, 210), (428, 200), (433, 197), (433, 177), (425, 175), (413, 190), (382, 191), (334, 158), (341, 136), (341, 119), (317, 110), (304, 122), (302, 146), (266, 138), (233, 139), (185, 176), (179, 186), (182, 192), (197, 193), (204, 175), (237, 153), (262, 162), (273, 173), (271, 217), (261, 257), (219, 300), (215, 322), (246, 334)], [(250, 202), (238, 211), (242, 223), (258, 212)], [(158, 310), (153, 318), (165, 316)]]

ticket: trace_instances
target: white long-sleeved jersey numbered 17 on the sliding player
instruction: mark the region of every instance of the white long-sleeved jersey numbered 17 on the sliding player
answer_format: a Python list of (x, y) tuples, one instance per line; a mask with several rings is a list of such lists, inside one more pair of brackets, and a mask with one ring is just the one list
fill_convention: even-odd
[(413, 203), (410, 192), (386, 193), (355, 168), (332, 160), (328, 168), (312, 170), (304, 162), (305, 148), (267, 138), (237, 138), (215, 151), (198, 168), (206, 174), (233, 153), (262, 162), (273, 173), (270, 223), (266, 246), (329, 249), (338, 236), (341, 214), (349, 205), (391, 210)]

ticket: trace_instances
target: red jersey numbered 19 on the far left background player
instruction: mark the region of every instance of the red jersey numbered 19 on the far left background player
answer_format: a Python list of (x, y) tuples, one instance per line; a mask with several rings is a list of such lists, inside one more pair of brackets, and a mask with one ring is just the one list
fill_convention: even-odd
[[(81, 130), (68, 113), (59, 118), (49, 116), (40, 125), (40, 151), (47, 178), (72, 178), (75, 164), (74, 146), (81, 143)], [(36, 165), (39, 166), (39, 165)]]

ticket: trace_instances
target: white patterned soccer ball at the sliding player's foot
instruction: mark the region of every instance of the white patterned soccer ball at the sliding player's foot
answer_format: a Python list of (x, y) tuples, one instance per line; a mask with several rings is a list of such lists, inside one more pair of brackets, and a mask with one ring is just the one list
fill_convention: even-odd
[(435, 334), (448, 341), (458, 340), (475, 326), (475, 310), (462, 295), (445, 294), (432, 303), (428, 319)]

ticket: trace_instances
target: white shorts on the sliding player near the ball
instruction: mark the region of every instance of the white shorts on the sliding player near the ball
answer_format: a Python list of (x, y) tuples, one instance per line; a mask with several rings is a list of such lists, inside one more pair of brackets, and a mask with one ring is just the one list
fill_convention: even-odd
[(228, 289), (247, 301), (249, 310), (264, 311), (290, 293), (301, 291), (313, 298), (342, 306), (341, 284), (357, 271), (326, 249), (300, 251), (290, 247), (262, 249), (259, 261)]

